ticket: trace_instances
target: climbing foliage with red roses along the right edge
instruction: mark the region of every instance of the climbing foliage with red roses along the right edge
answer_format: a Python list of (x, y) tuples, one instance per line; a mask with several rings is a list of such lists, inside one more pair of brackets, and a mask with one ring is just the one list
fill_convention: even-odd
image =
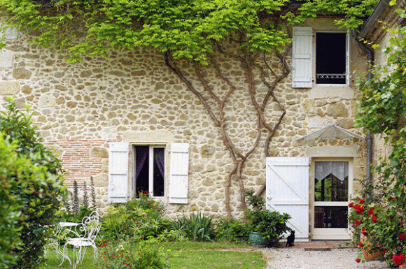
[[(396, 12), (406, 17), (405, 10)], [(393, 255), (406, 254), (406, 27), (387, 31), (386, 64), (375, 66), (371, 80), (359, 82), (362, 96), (356, 118), (358, 126), (381, 134), (391, 154), (374, 168), (379, 184), (365, 186), (364, 208), (372, 211), (365, 220), (360, 214), (356, 217), (363, 220), (357, 225), (369, 238), (364, 248), (383, 251), (393, 266)]]

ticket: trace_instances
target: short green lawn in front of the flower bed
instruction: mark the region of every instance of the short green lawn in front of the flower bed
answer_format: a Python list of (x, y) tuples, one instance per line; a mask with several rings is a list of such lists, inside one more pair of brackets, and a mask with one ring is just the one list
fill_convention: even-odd
[[(167, 249), (171, 249), (169, 263), (174, 269), (262, 269), (266, 267), (262, 254), (244, 244), (230, 244), (222, 242), (169, 242)], [(69, 257), (71, 257), (71, 252)], [(40, 268), (68, 269), (72, 268), (68, 261), (59, 266), (56, 254), (50, 252), (48, 266), (42, 263)], [(83, 263), (77, 269), (95, 269), (93, 254), (87, 252)]]

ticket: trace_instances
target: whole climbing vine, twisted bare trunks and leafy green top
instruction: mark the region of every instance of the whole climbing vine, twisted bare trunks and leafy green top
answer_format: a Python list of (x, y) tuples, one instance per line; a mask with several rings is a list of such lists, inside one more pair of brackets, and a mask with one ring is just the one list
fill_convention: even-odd
[[(265, 156), (270, 156), (272, 138), (286, 115), (274, 91), (290, 73), (287, 58), (291, 27), (308, 17), (338, 14), (342, 15), (338, 24), (356, 29), (377, 0), (306, 0), (298, 9), (292, 3), (296, 1), (0, 0), (8, 15), (8, 27), (35, 33), (33, 43), (57, 49), (71, 62), (87, 54), (106, 56), (112, 49), (143, 47), (162, 52), (166, 66), (204, 106), (230, 155), (233, 168), (224, 175), (228, 217), (232, 217), (232, 181), (239, 186), (240, 209), (245, 210), (244, 165), (261, 140)], [(227, 114), (235, 105), (230, 100), (237, 85), (218, 64), (218, 57), (239, 63), (246, 78), (244, 90), (251, 100), (250, 109), (255, 115), (251, 125), (256, 131), (248, 147), (239, 147), (231, 136)], [(193, 77), (186, 75), (181, 61), (193, 64)], [(207, 68), (214, 72), (205, 73)], [(215, 74), (216, 78), (207, 74)], [(225, 85), (222, 89), (212, 83), (218, 79)], [(267, 89), (262, 99), (258, 87)], [(271, 103), (275, 106), (269, 106)], [(276, 119), (268, 116), (273, 107), (279, 115)]]

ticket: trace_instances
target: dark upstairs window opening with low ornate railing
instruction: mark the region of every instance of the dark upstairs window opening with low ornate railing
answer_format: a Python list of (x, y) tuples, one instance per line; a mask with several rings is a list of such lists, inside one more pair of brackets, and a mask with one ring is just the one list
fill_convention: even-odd
[(316, 83), (346, 83), (346, 33), (316, 33)]

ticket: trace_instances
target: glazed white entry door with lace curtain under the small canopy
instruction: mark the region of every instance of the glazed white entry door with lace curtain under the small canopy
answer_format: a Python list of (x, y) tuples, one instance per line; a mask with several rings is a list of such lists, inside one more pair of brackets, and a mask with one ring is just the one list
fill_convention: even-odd
[(312, 239), (349, 240), (352, 159), (314, 159)]

